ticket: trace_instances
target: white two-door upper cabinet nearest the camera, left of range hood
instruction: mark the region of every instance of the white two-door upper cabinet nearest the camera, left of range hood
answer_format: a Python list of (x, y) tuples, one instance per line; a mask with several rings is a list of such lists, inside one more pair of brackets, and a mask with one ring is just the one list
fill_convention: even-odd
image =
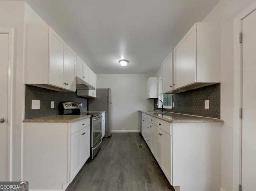
[(76, 54), (49, 26), (26, 26), (24, 84), (76, 91)]

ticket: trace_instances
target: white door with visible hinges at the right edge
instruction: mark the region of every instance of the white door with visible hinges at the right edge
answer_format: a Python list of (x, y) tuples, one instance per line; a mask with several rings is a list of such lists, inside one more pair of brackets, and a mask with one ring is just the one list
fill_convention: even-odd
[(242, 190), (256, 190), (256, 11), (242, 20)]

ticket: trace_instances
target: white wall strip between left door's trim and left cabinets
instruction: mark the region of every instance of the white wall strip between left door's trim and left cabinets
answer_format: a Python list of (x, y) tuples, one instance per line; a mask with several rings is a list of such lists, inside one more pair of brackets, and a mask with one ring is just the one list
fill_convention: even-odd
[(21, 131), (24, 116), (23, 84), (23, 36), (24, 36), (24, 2), (0, 1), (0, 27), (14, 28), (13, 54), (13, 112), (11, 129), (11, 174), (10, 180), (21, 179)]

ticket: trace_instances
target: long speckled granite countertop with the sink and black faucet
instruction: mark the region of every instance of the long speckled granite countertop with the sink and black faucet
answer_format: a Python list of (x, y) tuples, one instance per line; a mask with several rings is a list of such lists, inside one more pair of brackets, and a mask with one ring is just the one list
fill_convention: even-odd
[(195, 123), (195, 122), (224, 122), (222, 119), (216, 119), (216, 118), (210, 118), (210, 117), (200, 117), (195, 115), (186, 115), (186, 114), (180, 114), (180, 113), (172, 113), (172, 112), (161, 112), (161, 111), (155, 111), (155, 112), (148, 112), (144, 110), (139, 110), (143, 113), (146, 113), (148, 115), (151, 115), (153, 117), (156, 117), (158, 119), (162, 119), (164, 121), (167, 121), (168, 123)]

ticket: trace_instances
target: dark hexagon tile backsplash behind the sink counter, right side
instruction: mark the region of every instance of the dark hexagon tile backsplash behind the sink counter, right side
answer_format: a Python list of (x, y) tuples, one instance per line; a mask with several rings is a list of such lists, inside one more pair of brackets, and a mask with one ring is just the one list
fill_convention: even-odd
[[(204, 109), (204, 100), (210, 101), (210, 108)], [(157, 99), (154, 99), (154, 109)], [(200, 115), (220, 119), (220, 83), (179, 94), (173, 94), (174, 108), (164, 111)]]

